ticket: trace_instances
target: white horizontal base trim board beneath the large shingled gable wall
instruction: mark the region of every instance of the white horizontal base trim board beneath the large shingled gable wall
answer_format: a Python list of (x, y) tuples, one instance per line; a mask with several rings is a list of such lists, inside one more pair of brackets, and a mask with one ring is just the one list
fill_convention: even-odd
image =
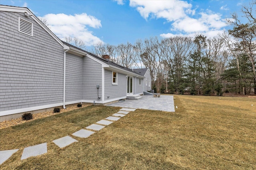
[(6, 111), (1, 111), (0, 116), (5, 116), (5, 115), (12, 115), (16, 113), (23, 113), (27, 111), (34, 111), (34, 110), (40, 110), (40, 109), (48, 109), (51, 107), (58, 107), (62, 106), (63, 103), (57, 103), (57, 104), (48, 104), (48, 105), (43, 105), (43, 106), (35, 106), (35, 107), (26, 107), (22, 109), (14, 109), (14, 110), (6, 110)]

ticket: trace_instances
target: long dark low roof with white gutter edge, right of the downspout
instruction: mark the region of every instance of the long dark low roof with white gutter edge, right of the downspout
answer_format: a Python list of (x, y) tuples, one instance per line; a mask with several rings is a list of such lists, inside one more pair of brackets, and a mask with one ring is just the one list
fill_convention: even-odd
[(79, 51), (82, 51), (85, 53), (85, 55), (90, 55), (91, 57), (93, 57), (94, 59), (104, 63), (104, 64), (107, 64), (109, 67), (112, 67), (112, 68), (115, 68), (115, 69), (118, 69), (118, 70), (124, 70), (124, 72), (130, 72), (130, 74), (135, 74), (137, 76), (140, 76), (140, 77), (144, 77), (144, 75), (142, 74), (138, 74), (138, 72), (135, 72), (133, 71), (132, 69), (130, 68), (127, 68), (127, 67), (124, 67), (124, 66), (121, 66), (119, 64), (116, 64), (114, 63), (113, 61), (110, 61), (110, 60), (106, 60), (106, 59), (103, 59), (102, 57), (99, 57), (98, 55), (95, 55), (93, 53), (90, 53), (88, 51), (85, 51), (83, 49), (80, 49), (74, 45), (71, 45), (69, 43), (66, 43), (65, 41), (62, 41), (62, 43), (64, 43), (64, 45), (67, 45), (68, 47), (72, 47), (73, 49), (77, 49)]

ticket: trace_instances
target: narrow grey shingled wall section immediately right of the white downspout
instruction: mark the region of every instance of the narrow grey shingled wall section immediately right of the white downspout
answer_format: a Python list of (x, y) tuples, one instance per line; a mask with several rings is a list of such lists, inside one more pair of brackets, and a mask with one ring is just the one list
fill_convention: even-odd
[(66, 53), (66, 102), (83, 99), (83, 58)]

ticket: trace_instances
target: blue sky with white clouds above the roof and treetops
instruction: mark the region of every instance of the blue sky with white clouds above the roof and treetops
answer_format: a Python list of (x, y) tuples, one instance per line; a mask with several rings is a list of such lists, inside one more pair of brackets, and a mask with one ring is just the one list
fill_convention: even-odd
[(1, 0), (0, 4), (29, 8), (46, 18), (60, 39), (82, 39), (87, 48), (102, 41), (134, 43), (152, 36), (214, 37), (231, 27), (225, 19), (250, 0)]

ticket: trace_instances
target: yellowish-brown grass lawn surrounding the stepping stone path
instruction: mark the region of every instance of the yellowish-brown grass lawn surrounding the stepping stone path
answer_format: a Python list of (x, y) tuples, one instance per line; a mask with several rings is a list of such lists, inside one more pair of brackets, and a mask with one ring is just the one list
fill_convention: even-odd
[[(0, 129), (0, 169), (256, 169), (256, 99), (174, 95), (175, 113), (137, 109), (86, 139), (71, 134), (118, 112), (89, 106)], [(251, 106), (253, 104), (253, 106)], [(54, 139), (79, 142), (60, 149)], [(48, 153), (20, 160), (25, 147)]]

